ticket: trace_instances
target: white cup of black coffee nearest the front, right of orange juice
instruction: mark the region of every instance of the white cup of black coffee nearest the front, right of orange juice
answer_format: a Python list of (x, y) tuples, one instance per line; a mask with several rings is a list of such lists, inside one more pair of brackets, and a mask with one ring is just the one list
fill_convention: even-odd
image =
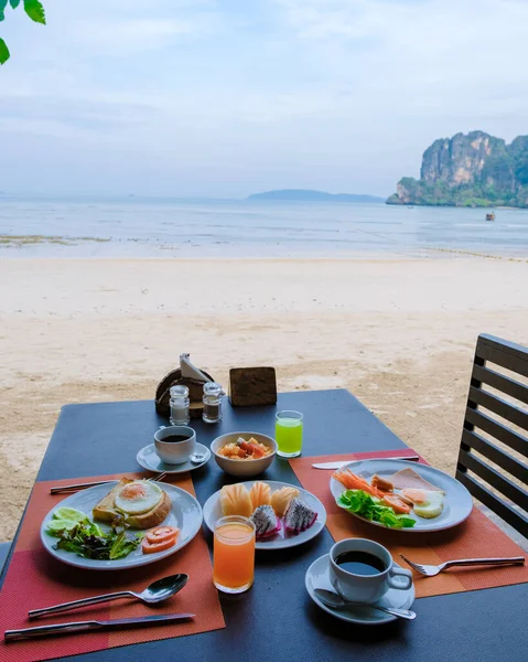
[[(336, 563), (345, 552), (365, 552), (376, 556), (384, 570), (360, 575), (346, 570)], [(381, 598), (389, 588), (408, 590), (412, 586), (412, 573), (396, 567), (388, 549), (366, 538), (347, 538), (336, 543), (330, 551), (330, 579), (341, 596), (353, 602), (370, 605)]]

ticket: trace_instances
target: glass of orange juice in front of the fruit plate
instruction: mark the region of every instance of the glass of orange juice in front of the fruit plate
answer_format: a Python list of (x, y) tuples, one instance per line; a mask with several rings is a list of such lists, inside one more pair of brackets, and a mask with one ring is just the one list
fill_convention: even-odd
[(255, 524), (247, 517), (228, 515), (215, 525), (213, 581), (218, 590), (244, 592), (255, 575)]

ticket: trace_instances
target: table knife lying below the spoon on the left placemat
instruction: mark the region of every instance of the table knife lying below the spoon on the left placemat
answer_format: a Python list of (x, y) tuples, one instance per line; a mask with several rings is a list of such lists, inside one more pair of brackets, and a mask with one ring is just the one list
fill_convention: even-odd
[(57, 623), (55, 626), (39, 626), (25, 630), (6, 630), (3, 639), (6, 642), (33, 639), (34, 637), (47, 637), (50, 634), (71, 634), (73, 632), (91, 632), (94, 630), (118, 630), (129, 626), (162, 626), (180, 620), (190, 620), (194, 613), (168, 613), (164, 616), (143, 616), (141, 618), (121, 618), (111, 621), (76, 621), (69, 623)]

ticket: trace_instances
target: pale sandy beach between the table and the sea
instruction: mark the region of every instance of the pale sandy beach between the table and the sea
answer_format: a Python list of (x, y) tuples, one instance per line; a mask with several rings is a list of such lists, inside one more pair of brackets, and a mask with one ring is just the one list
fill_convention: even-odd
[(527, 344), (527, 276), (526, 260), (462, 256), (3, 258), (0, 541), (61, 406), (151, 398), (181, 352), (224, 384), (229, 367), (273, 365), (281, 391), (348, 388), (453, 472), (476, 337)]

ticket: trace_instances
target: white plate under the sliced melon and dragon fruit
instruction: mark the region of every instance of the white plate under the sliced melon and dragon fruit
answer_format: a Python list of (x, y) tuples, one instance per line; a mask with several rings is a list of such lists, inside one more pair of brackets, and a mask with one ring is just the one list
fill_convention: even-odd
[[(237, 484), (246, 485), (246, 488), (250, 490), (255, 482), (257, 481), (249, 480), (247, 482)], [(263, 480), (261, 482), (268, 483), (271, 488), (271, 492), (280, 490), (281, 488), (294, 488), (295, 490), (299, 490), (299, 499), (304, 501), (309, 508), (317, 513), (317, 519), (312, 526), (310, 526), (310, 528), (306, 531), (301, 531), (301, 533), (298, 534), (285, 533), (284, 527), (282, 527), (277, 535), (263, 541), (257, 541), (257, 544), (255, 545), (257, 549), (284, 549), (285, 547), (297, 547), (297, 545), (302, 545), (303, 543), (311, 541), (323, 531), (326, 523), (326, 511), (324, 510), (324, 505), (321, 503), (321, 501), (311, 492), (306, 492), (306, 490), (303, 490), (298, 485), (283, 483), (278, 480)], [(220, 491), (218, 490), (218, 492), (215, 492), (207, 499), (204, 505), (204, 522), (207, 528), (213, 532), (215, 530), (216, 522), (222, 516)]]

